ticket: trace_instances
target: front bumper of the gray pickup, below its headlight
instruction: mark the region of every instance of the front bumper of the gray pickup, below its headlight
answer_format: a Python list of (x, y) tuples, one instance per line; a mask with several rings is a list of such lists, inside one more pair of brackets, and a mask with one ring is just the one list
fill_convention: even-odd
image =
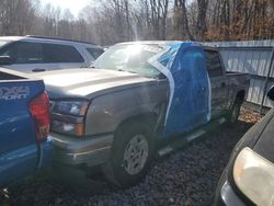
[(113, 135), (100, 135), (89, 138), (73, 138), (52, 134), (54, 139), (54, 161), (70, 165), (99, 165), (107, 161)]

